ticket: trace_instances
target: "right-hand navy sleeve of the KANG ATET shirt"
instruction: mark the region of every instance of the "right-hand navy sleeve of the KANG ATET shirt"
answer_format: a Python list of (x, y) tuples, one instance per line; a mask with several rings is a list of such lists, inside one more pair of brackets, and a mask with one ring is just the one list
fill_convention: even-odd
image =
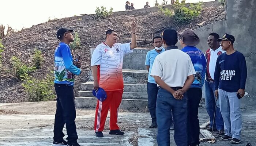
[(247, 78), (247, 67), (244, 55), (239, 55), (239, 70), (240, 70), (240, 89), (245, 89)]

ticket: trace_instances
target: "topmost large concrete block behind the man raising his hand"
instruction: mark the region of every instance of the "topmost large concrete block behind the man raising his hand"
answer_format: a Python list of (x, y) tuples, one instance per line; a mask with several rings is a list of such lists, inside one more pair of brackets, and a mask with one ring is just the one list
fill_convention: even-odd
[[(93, 50), (95, 48), (91, 48), (91, 55), (93, 54)], [(148, 51), (152, 49), (142, 49), (136, 48), (133, 49), (133, 53), (124, 56), (123, 61), (123, 69), (140, 69), (145, 70), (145, 59)], [(139, 59), (139, 61), (138, 61)]]

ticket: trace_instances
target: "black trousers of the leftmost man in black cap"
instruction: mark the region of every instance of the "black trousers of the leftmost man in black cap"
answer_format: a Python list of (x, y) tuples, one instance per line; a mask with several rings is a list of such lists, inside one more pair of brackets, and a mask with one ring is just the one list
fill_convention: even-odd
[(70, 143), (76, 142), (76, 109), (74, 104), (74, 87), (65, 84), (54, 84), (57, 93), (57, 110), (54, 120), (54, 141), (62, 141), (65, 136), (63, 133), (64, 124), (67, 128), (67, 140)]

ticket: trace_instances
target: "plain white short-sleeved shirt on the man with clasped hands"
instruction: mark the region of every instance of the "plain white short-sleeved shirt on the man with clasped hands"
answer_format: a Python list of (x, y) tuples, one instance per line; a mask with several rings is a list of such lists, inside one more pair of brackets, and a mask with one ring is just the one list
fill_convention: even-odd
[(166, 50), (154, 61), (150, 76), (158, 76), (169, 87), (183, 87), (188, 76), (196, 74), (189, 55), (179, 49)]

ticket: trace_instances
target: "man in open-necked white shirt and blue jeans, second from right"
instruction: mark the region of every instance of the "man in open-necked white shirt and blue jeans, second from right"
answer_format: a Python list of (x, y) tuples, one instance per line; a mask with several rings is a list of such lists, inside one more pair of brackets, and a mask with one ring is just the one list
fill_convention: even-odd
[[(217, 41), (218, 38), (219, 35), (215, 32), (209, 35), (207, 43), (210, 49), (208, 49), (204, 54), (207, 60), (205, 81), (205, 104), (208, 115), (210, 116), (210, 128), (208, 130), (212, 131), (213, 128), (213, 131), (218, 130), (218, 134), (224, 134), (224, 123), (221, 115), (221, 110), (219, 108), (219, 100), (215, 101), (216, 99), (214, 96), (214, 72), (216, 61), (219, 55), (226, 52), (223, 51), (221, 45), (219, 45), (219, 42)], [(217, 107), (215, 113), (215, 120), (213, 122), (215, 106)]]

